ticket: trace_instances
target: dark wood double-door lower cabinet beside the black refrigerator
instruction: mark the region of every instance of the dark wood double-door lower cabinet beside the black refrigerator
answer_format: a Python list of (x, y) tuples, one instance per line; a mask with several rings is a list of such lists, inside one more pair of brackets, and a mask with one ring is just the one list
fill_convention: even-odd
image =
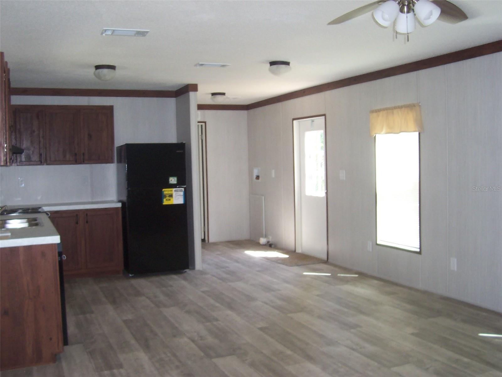
[(65, 277), (122, 273), (120, 208), (55, 211), (50, 219), (61, 236)]

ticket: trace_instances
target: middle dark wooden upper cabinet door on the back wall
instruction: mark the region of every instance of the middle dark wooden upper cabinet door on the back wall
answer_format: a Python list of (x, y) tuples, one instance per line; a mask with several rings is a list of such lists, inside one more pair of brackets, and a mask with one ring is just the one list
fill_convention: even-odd
[(45, 109), (45, 145), (48, 165), (81, 162), (80, 117), (77, 109)]

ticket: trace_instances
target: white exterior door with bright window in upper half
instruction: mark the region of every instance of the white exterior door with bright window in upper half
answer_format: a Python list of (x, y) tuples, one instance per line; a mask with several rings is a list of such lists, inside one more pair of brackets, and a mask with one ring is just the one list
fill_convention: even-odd
[(325, 118), (293, 122), (296, 251), (327, 260)]

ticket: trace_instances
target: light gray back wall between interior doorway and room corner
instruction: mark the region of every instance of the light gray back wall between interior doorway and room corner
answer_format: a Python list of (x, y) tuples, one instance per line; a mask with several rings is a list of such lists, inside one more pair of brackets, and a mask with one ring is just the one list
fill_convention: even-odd
[(199, 111), (206, 122), (209, 241), (249, 238), (247, 113)]

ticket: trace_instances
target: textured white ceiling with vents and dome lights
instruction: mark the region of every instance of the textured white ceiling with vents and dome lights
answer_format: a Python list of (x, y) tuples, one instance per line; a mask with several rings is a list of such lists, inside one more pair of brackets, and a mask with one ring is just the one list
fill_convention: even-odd
[[(0, 2), (0, 48), (15, 87), (172, 90), (199, 84), (249, 104), (293, 90), (477, 46), (502, 36), (502, 1), (455, 1), (469, 20), (418, 26), (393, 41), (367, 13), (332, 19), (369, 1), (20, 1)], [(101, 36), (104, 27), (149, 29), (145, 38)], [(270, 60), (289, 60), (284, 76)], [(197, 68), (197, 62), (230, 63)], [(98, 81), (96, 64), (114, 64)]]

